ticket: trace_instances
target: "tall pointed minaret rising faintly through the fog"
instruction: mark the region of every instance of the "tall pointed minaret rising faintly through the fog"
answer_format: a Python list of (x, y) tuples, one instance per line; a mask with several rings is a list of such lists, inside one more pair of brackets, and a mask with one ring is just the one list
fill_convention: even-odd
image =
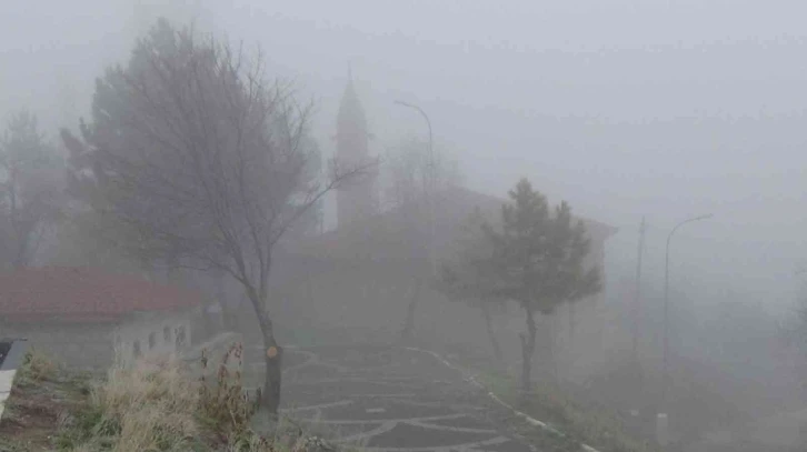
[[(348, 86), (345, 88), (337, 115), (337, 162), (346, 170), (370, 163), (367, 141), (367, 118), (353, 87), (348, 67)], [(375, 171), (362, 173), (343, 184), (337, 192), (337, 227), (361, 221), (377, 212)]]

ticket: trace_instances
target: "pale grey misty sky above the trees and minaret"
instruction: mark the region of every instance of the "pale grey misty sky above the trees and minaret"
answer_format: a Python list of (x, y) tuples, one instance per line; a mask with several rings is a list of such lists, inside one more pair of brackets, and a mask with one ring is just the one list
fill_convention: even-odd
[[(141, 27), (134, 3), (0, 0), (0, 114), (31, 108), (51, 134), (86, 115), (93, 78), (124, 61)], [(797, 285), (794, 270), (807, 262), (804, 2), (200, 4), (199, 23), (260, 44), (270, 74), (297, 79), (317, 100), (328, 152), (350, 61), (373, 151), (425, 133), (392, 103), (417, 102), (470, 188), (504, 194), (526, 175), (619, 227), (611, 273), (632, 272), (647, 215), (648, 283), (660, 285), (666, 232), (711, 212), (677, 235), (674, 283), (723, 284), (766, 302)], [(195, 14), (148, 11), (158, 10)]]

